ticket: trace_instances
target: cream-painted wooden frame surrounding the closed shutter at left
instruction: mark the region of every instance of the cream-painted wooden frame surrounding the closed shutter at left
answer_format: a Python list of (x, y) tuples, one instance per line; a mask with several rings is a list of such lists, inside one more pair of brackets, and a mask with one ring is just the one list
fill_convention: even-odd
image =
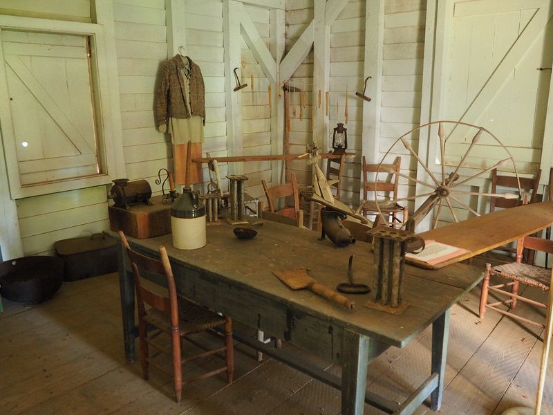
[[(100, 107), (101, 122), (97, 125), (100, 131), (102, 142), (99, 145), (98, 152), (104, 163), (104, 174), (93, 177), (74, 178), (65, 181), (56, 181), (53, 183), (39, 183), (32, 186), (21, 186), (19, 179), (19, 169), (17, 167), (17, 153), (12, 126), (12, 117), (8, 97), (8, 85), (6, 80), (6, 67), (0, 64), (0, 123), (2, 126), (2, 140), (6, 157), (6, 167), (8, 170), (8, 181), (10, 183), (11, 199), (22, 199), (30, 196), (49, 194), (55, 192), (64, 192), (66, 190), (81, 189), (84, 187), (93, 187), (111, 183), (113, 177), (117, 177), (118, 162), (123, 160), (115, 159), (116, 144), (121, 145), (120, 140), (115, 137), (112, 120), (119, 119), (119, 102), (113, 102), (113, 97), (109, 91), (109, 73), (108, 68), (116, 68), (116, 65), (109, 65), (106, 56), (106, 39), (104, 36), (104, 27), (100, 24), (79, 23), (73, 21), (61, 21), (50, 19), (35, 19), (30, 17), (16, 17), (0, 15), (0, 30), (19, 29), (19, 30), (37, 30), (41, 32), (64, 33), (68, 35), (91, 36), (93, 46), (95, 46), (94, 57), (97, 66), (97, 93), (98, 107)], [(0, 43), (0, 55), (3, 56), (3, 50)], [(113, 70), (113, 69), (112, 69)], [(116, 76), (117, 74), (115, 74)], [(100, 153), (101, 152), (101, 153)]]

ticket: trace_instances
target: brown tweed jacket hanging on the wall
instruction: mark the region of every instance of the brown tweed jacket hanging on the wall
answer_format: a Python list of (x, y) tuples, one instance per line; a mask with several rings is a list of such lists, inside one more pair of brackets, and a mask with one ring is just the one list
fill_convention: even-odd
[(188, 112), (185, 105), (185, 77), (182, 75), (182, 68), (185, 67), (180, 55), (167, 59), (162, 64), (161, 80), (156, 92), (155, 117), (156, 127), (167, 124), (169, 118), (190, 118), (201, 116), (205, 125), (205, 89), (203, 85), (202, 72), (200, 67), (190, 62), (190, 109)]

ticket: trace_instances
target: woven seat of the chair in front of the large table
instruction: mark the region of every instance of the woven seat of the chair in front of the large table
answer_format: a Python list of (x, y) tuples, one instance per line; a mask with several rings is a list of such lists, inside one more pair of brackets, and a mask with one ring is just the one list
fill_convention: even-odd
[[(165, 333), (171, 333), (171, 316), (165, 311), (149, 308), (144, 320)], [(225, 318), (187, 299), (178, 299), (178, 329), (180, 335), (200, 333), (225, 324)]]

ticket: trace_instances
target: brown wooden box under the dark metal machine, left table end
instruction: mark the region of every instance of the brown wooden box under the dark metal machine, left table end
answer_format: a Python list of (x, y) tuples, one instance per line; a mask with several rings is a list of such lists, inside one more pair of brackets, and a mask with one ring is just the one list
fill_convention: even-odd
[(122, 230), (129, 237), (144, 239), (171, 233), (171, 199), (161, 203), (162, 195), (150, 199), (152, 206), (132, 205), (131, 210), (110, 206), (109, 228)]

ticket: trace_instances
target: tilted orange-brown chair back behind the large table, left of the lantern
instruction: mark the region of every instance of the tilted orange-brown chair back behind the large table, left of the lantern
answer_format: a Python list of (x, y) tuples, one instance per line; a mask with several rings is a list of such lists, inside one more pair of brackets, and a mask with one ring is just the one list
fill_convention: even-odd
[[(261, 185), (263, 185), (263, 190), (265, 190), (268, 203), (268, 209), (263, 209), (261, 211), (261, 218), (303, 228), (303, 210), (299, 208), (299, 192), (296, 174), (292, 172), (290, 177), (292, 178), (291, 183), (272, 187), (268, 187), (267, 183), (261, 180)], [(292, 196), (294, 205), (291, 207), (285, 206), (285, 208), (277, 210), (275, 201), (289, 196)]]

